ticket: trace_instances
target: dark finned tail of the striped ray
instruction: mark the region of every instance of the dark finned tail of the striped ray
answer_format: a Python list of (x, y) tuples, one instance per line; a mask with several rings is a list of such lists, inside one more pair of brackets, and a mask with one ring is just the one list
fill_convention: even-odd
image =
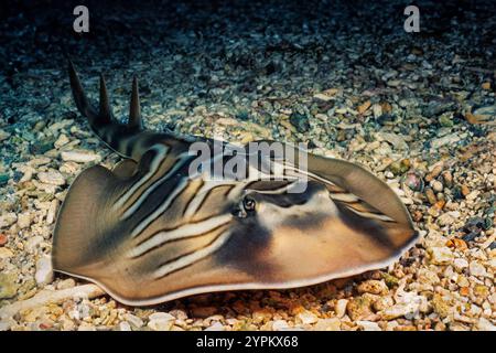
[[(114, 118), (104, 75), (100, 74), (100, 99), (99, 109), (97, 110), (89, 103), (71, 60), (68, 61), (68, 73), (77, 109), (83, 116), (88, 118), (89, 125), (95, 133), (120, 156), (138, 160), (142, 152), (149, 148), (148, 145), (152, 143), (153, 140), (152, 133), (143, 131), (138, 79), (134, 77), (132, 81), (129, 120), (125, 125)], [(144, 135), (150, 136), (147, 138)]]

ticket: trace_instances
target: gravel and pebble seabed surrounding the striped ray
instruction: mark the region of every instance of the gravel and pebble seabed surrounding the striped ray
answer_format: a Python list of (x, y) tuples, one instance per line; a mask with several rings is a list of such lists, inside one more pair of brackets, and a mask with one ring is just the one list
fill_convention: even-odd
[[(90, 1), (85, 35), (71, 33), (66, 6), (3, 12), (0, 330), (494, 331), (494, 4), (418, 6), (420, 33), (403, 31), (403, 1)], [(389, 268), (354, 278), (149, 308), (53, 274), (68, 185), (119, 161), (77, 114), (61, 45), (90, 97), (106, 74), (118, 117), (137, 75), (149, 129), (306, 142), (360, 163), (400, 195), (421, 239)]]

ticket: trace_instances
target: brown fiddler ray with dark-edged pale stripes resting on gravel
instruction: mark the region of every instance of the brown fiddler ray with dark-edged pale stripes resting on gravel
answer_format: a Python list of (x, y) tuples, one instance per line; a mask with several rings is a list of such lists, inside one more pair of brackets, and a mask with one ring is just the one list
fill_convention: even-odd
[[(362, 167), (308, 153), (305, 168), (273, 159), (282, 179), (254, 173), (249, 162), (244, 179), (192, 173), (192, 143), (215, 141), (143, 129), (136, 78), (125, 125), (103, 76), (99, 109), (72, 63), (69, 77), (79, 113), (123, 160), (76, 178), (58, 213), (53, 266), (120, 302), (320, 284), (389, 266), (418, 238), (399, 197)], [(304, 191), (292, 192), (303, 180)]]

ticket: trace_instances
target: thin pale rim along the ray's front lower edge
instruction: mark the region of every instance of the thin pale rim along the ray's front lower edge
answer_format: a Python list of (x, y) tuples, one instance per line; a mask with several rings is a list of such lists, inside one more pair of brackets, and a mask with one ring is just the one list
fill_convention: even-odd
[(408, 243), (400, 252), (398, 252), (395, 256), (388, 258), (385, 261), (381, 263), (373, 263), (367, 266), (362, 266), (357, 268), (352, 268), (346, 271), (342, 272), (335, 272), (326, 276), (317, 276), (313, 277), (306, 280), (292, 280), (292, 281), (283, 281), (283, 282), (271, 282), (271, 284), (263, 284), (263, 282), (249, 282), (249, 284), (239, 284), (239, 285), (217, 285), (217, 286), (202, 286), (202, 287), (195, 287), (195, 288), (188, 288), (185, 290), (175, 291), (162, 297), (145, 299), (145, 300), (129, 300), (126, 298), (122, 298), (118, 296), (117, 293), (109, 290), (105, 285), (98, 282), (97, 280), (94, 280), (91, 278), (75, 275), (72, 272), (54, 269), (57, 272), (69, 275), (76, 278), (85, 279), (89, 282), (93, 282), (97, 286), (99, 286), (101, 289), (104, 289), (110, 297), (116, 299), (117, 301), (132, 307), (144, 307), (144, 306), (154, 306), (162, 302), (171, 301), (174, 299), (183, 298), (183, 297), (190, 297), (194, 295), (203, 295), (203, 293), (209, 293), (209, 292), (218, 292), (218, 291), (235, 291), (235, 290), (270, 290), (270, 289), (291, 289), (291, 288), (300, 288), (300, 287), (308, 287), (313, 285), (323, 284), (333, 279), (338, 278), (346, 278), (356, 276), (359, 274), (364, 274), (366, 271), (377, 270), (380, 268), (389, 267), (397, 260), (399, 260), (419, 239), (419, 234), (417, 232), (416, 237)]

